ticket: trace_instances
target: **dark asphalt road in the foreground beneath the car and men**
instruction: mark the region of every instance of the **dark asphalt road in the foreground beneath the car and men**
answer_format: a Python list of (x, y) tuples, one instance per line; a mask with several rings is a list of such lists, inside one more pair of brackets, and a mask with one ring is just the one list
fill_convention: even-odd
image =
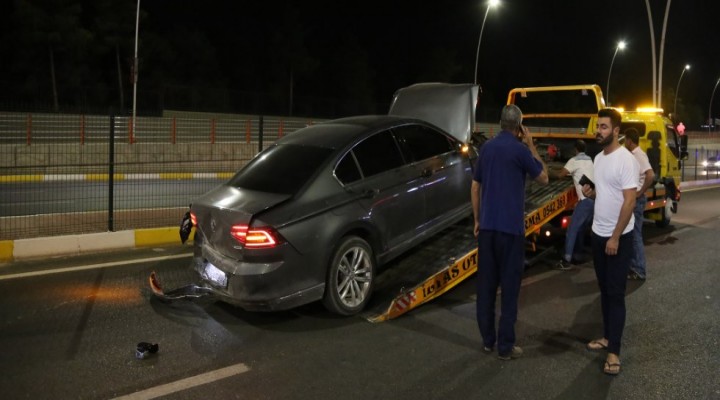
[[(585, 350), (601, 332), (589, 263), (526, 271), (525, 356), (506, 362), (480, 350), (474, 277), (378, 324), (318, 304), (249, 313), (152, 298), (150, 271), (187, 276), (189, 248), (169, 247), (0, 266), (0, 396), (720, 399), (719, 198), (718, 188), (686, 190), (670, 227), (645, 225), (648, 280), (628, 286), (617, 377)], [(90, 268), (62, 270), (77, 266)], [(137, 359), (141, 341), (159, 352)]]

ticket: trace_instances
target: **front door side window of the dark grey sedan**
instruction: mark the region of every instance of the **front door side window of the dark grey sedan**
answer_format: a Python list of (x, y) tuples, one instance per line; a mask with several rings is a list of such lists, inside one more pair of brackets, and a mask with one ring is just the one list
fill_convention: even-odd
[(394, 128), (393, 132), (409, 161), (420, 161), (453, 150), (447, 136), (427, 126), (405, 125)]

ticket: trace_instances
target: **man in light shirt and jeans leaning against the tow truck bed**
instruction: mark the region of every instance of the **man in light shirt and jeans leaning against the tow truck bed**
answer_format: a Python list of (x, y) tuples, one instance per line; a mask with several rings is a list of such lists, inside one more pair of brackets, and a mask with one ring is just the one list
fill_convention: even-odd
[(565, 166), (555, 175), (555, 178), (558, 179), (571, 175), (573, 183), (575, 184), (575, 191), (578, 195), (578, 202), (573, 209), (572, 216), (570, 217), (570, 226), (568, 226), (567, 233), (565, 234), (565, 253), (554, 266), (555, 269), (561, 271), (569, 271), (572, 269), (570, 264), (573, 260), (573, 254), (575, 254), (575, 245), (578, 237), (582, 235), (585, 231), (584, 228), (593, 218), (595, 201), (583, 195), (582, 185), (580, 184), (580, 179), (583, 175), (591, 181), (594, 180), (593, 161), (590, 156), (585, 154), (585, 147), (585, 141), (578, 139), (575, 142), (575, 156), (569, 159), (568, 162), (565, 163)]

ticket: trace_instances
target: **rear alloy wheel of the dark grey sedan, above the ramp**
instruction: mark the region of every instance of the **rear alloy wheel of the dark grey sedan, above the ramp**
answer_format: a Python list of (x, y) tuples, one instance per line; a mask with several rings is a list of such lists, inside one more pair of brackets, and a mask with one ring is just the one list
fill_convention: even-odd
[(374, 283), (375, 257), (372, 248), (362, 238), (345, 237), (333, 253), (328, 267), (323, 304), (335, 314), (357, 314), (370, 300)]

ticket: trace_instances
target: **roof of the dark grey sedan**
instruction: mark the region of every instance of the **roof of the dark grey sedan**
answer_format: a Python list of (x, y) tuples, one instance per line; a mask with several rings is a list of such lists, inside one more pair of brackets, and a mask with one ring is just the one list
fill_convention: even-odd
[(334, 119), (298, 129), (277, 144), (342, 148), (363, 136), (405, 123), (427, 124), (423, 121), (391, 115), (362, 115)]

